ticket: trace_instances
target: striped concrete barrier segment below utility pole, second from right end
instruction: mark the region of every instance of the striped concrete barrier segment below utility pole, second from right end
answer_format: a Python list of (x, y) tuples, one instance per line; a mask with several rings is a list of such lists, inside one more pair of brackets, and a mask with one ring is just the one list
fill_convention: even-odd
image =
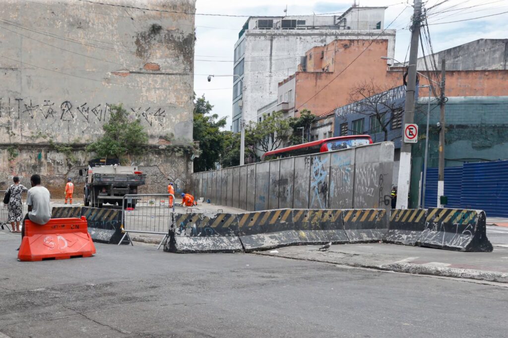
[(393, 209), (383, 242), (416, 245), (425, 229), (426, 209)]

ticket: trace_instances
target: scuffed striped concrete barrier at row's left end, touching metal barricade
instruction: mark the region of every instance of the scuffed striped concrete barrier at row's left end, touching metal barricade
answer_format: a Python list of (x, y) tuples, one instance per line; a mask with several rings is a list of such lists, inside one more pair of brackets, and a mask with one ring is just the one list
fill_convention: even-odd
[(164, 251), (175, 253), (240, 252), (237, 214), (173, 213)]

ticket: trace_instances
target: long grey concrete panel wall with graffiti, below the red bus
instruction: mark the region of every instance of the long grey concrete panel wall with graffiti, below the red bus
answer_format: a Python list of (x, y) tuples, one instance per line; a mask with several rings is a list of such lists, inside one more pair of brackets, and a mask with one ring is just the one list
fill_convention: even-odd
[[(248, 211), (268, 209), (389, 209), (393, 142), (298, 156), (193, 174), (201, 189), (206, 177), (222, 177), (217, 204)], [(236, 179), (236, 175), (239, 178)], [(229, 178), (231, 176), (231, 178)], [(226, 179), (228, 177), (228, 179)], [(224, 194), (228, 194), (228, 197)], [(385, 201), (388, 201), (386, 204)]]

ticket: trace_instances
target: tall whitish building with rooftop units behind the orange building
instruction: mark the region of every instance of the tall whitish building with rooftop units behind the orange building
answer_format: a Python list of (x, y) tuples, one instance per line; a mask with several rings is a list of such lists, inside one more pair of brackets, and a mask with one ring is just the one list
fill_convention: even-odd
[[(382, 32), (384, 15), (385, 7), (355, 7), (340, 16), (250, 17), (235, 44), (233, 131), (241, 118), (256, 121), (258, 110), (277, 100), (278, 82), (297, 71), (308, 49), (336, 39), (372, 39)], [(395, 30), (380, 38), (393, 57)]]

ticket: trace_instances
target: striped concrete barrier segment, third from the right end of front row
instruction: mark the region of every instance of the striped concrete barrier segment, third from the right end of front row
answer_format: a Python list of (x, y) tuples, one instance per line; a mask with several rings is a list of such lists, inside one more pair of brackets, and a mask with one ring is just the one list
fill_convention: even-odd
[(342, 211), (344, 231), (351, 243), (379, 242), (388, 230), (385, 209), (349, 209)]

